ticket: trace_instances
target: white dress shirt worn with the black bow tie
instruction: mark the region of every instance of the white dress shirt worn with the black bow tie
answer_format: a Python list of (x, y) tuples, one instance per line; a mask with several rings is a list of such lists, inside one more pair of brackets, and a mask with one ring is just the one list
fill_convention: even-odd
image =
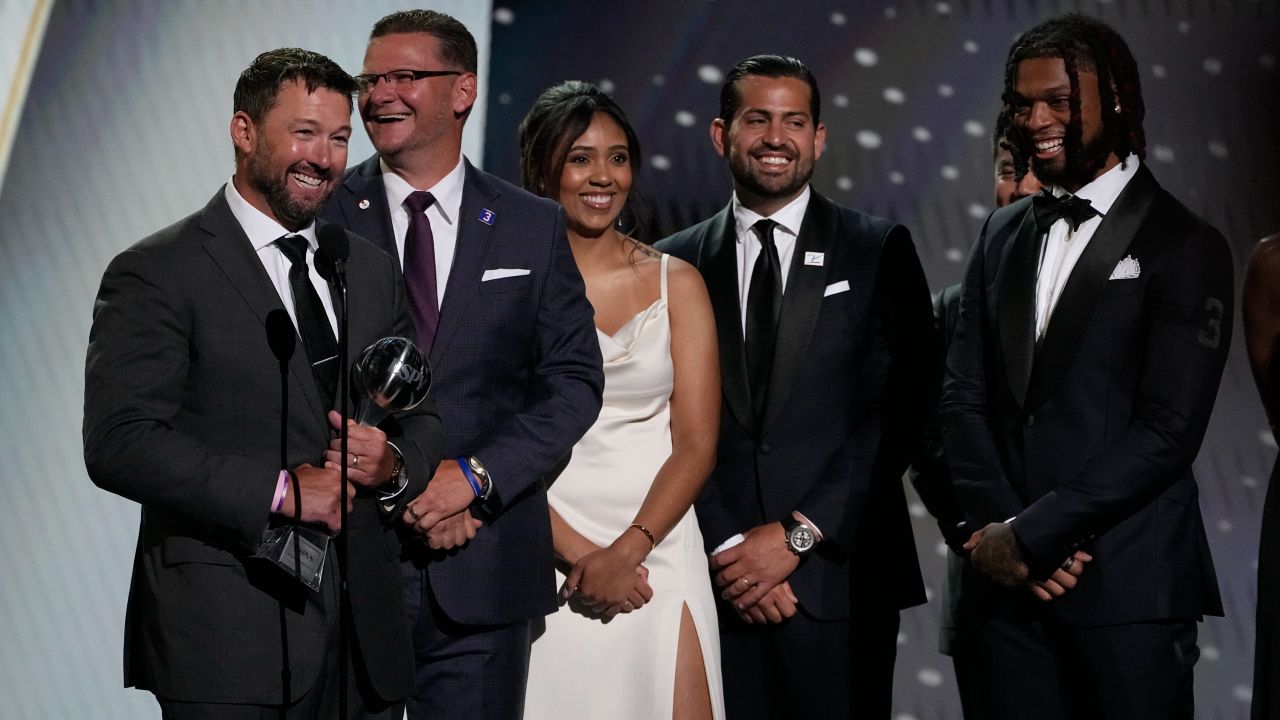
[[(1129, 184), (1129, 181), (1138, 173), (1138, 156), (1129, 155), (1124, 163), (1111, 168), (1094, 178), (1075, 192), (1076, 197), (1088, 200), (1098, 215), (1080, 223), (1080, 227), (1071, 232), (1071, 224), (1066, 219), (1059, 219), (1048, 228), (1048, 237), (1041, 249), (1039, 269), (1036, 273), (1036, 340), (1044, 337), (1050, 319), (1053, 316), (1053, 307), (1057, 306), (1062, 296), (1062, 288), (1071, 277), (1075, 263), (1089, 246), (1089, 240), (1102, 224), (1102, 217), (1111, 211), (1120, 191)], [(1055, 196), (1070, 195), (1061, 187), (1052, 187)]]

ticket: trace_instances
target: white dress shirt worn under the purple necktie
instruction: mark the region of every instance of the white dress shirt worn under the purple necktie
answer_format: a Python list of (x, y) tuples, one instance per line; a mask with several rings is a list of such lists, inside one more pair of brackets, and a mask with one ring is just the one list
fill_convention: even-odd
[(426, 209), (426, 219), (431, 223), (431, 240), (435, 242), (435, 301), (436, 307), (444, 306), (444, 286), (449, 282), (453, 268), (453, 251), (458, 245), (458, 213), (462, 210), (462, 183), (466, 179), (466, 164), (458, 155), (458, 164), (440, 182), (431, 187), (416, 188), (404, 178), (397, 176), (385, 160), (379, 160), (383, 168), (383, 187), (387, 190), (387, 206), (392, 213), (392, 232), (396, 234), (396, 254), (404, 261), (404, 236), (408, 234), (408, 209), (404, 199), (411, 192), (425, 190), (435, 202)]

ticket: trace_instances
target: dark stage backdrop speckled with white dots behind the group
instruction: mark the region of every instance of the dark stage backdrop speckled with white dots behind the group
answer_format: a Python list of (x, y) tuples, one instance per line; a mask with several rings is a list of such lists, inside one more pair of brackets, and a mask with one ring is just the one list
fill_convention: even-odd
[[(516, 128), (532, 100), (563, 79), (595, 82), (636, 127), (649, 236), (662, 237), (728, 200), (728, 172), (708, 138), (723, 74), (755, 53), (796, 55), (818, 77), (827, 123), (814, 186), (906, 224), (936, 292), (960, 281), (992, 209), (991, 131), (1009, 45), (1069, 10), (1128, 38), (1147, 105), (1147, 164), (1243, 263), (1253, 242), (1280, 232), (1280, 4), (1271, 0), (650, 0), (607, 9), (497, 0), (486, 167), (518, 178)], [(1197, 462), (1228, 611), (1201, 633), (1198, 705), (1215, 719), (1248, 711), (1258, 518), (1276, 454), (1235, 340)], [(959, 717), (950, 661), (936, 652), (942, 546), (923, 506), (913, 512), (934, 600), (904, 615), (896, 712)], [(874, 578), (865, 592), (876, 592)]]

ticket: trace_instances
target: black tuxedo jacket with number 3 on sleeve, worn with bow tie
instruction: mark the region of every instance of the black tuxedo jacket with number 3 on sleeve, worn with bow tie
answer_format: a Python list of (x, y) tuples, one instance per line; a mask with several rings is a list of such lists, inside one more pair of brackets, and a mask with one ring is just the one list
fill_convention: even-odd
[[(1230, 250), (1140, 167), (1037, 347), (1029, 208), (988, 218), (965, 275), (942, 402), (956, 497), (974, 527), (1016, 515), (1034, 578), (1093, 555), (1052, 603), (1070, 623), (1221, 614), (1192, 461), (1230, 346)], [(1138, 277), (1108, 279), (1125, 259)]]

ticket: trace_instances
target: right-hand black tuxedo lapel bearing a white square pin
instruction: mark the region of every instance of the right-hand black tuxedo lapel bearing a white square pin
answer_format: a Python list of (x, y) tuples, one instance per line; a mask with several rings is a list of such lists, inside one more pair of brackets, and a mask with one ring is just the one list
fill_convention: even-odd
[[(822, 307), (832, 259), (832, 238), (837, 233), (836, 206), (817, 192), (809, 196), (809, 208), (800, 222), (800, 234), (791, 254), (786, 291), (782, 293), (782, 311), (778, 314), (778, 337), (773, 346), (773, 365), (769, 370), (769, 396), (764, 401), (764, 420), (760, 434), (773, 425), (791, 392), (791, 382), (809, 347), (818, 310)], [(805, 252), (823, 252), (822, 265), (806, 265)]]

